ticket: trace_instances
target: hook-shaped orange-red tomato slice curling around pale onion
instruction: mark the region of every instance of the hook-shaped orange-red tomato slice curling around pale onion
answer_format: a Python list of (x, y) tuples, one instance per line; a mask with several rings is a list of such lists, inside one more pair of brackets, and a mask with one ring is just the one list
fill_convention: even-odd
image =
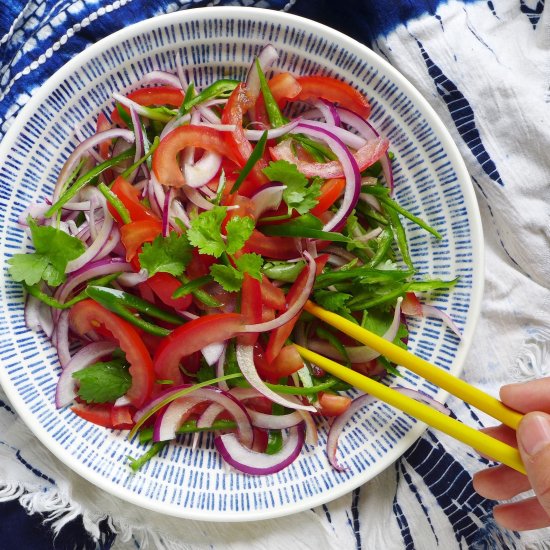
[(244, 163), (241, 162), (235, 145), (225, 135), (228, 133), (233, 134), (233, 132), (220, 132), (214, 128), (193, 124), (179, 126), (172, 130), (153, 153), (152, 168), (158, 181), (172, 187), (185, 185), (178, 155), (186, 147), (199, 147), (214, 151), (229, 158), (235, 164), (243, 166)]

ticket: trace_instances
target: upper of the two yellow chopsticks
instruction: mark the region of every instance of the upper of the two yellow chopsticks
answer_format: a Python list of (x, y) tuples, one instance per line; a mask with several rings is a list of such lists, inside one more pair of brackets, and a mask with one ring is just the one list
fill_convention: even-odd
[[(429, 380), (436, 386), (456, 395), (462, 401), (470, 403), (480, 411), (487, 413), (493, 418), (499, 420), (506, 426), (517, 430), (520, 420), (523, 415), (508, 408), (504, 403), (485, 393), (484, 391), (471, 386), (464, 380), (449, 374), (447, 371), (432, 365), (428, 361), (413, 355), (411, 352), (400, 348), (388, 342), (381, 336), (374, 334), (336, 313), (327, 311), (322, 307), (308, 301), (304, 308), (306, 311), (315, 317), (322, 319), (329, 325), (337, 328), (343, 333), (355, 338), (366, 346), (378, 351), (396, 365), (402, 365), (410, 371), (418, 374), (422, 378)], [(337, 375), (335, 375), (337, 376)]]

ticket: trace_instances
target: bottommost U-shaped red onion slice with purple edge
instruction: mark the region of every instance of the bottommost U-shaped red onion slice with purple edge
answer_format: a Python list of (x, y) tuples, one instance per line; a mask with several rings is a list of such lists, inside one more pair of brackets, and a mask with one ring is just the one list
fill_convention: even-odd
[(298, 424), (290, 428), (283, 447), (274, 455), (257, 453), (244, 447), (233, 433), (216, 437), (214, 443), (223, 459), (233, 468), (250, 475), (275, 474), (292, 464), (300, 454), (304, 445), (304, 426)]

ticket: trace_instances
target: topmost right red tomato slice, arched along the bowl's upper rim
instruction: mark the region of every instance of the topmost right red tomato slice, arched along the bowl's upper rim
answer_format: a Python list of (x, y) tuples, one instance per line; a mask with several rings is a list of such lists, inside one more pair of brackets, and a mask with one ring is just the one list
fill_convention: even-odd
[(297, 95), (289, 98), (289, 101), (306, 101), (322, 97), (350, 109), (363, 118), (370, 115), (371, 106), (368, 99), (346, 82), (332, 76), (299, 76), (296, 80), (302, 89)]

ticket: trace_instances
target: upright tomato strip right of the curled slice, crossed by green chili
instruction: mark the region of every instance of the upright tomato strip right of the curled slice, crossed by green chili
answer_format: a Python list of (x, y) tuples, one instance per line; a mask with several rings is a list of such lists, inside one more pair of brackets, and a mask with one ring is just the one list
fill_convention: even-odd
[[(252, 101), (246, 93), (244, 85), (241, 83), (229, 96), (222, 113), (222, 124), (233, 124), (235, 126), (233, 132), (226, 133), (226, 140), (231, 149), (238, 152), (238, 164), (240, 166), (244, 166), (254, 149), (243, 130), (243, 117), (250, 107), (252, 107)], [(258, 187), (268, 182), (267, 177), (262, 172), (262, 169), (266, 166), (267, 162), (264, 159), (256, 162), (250, 174), (239, 188), (239, 194), (249, 197)]]

